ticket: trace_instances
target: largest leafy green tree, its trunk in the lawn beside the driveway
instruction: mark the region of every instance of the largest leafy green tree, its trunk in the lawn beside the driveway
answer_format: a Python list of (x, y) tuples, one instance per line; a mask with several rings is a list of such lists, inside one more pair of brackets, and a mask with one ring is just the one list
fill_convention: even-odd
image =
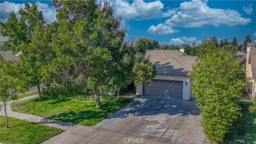
[(43, 82), (57, 89), (69, 83), (83, 89), (86, 84), (100, 108), (99, 93), (110, 90), (112, 68), (126, 32), (121, 19), (114, 17), (107, 2), (53, 1), (53, 6), (58, 12), (58, 31), (52, 37), (56, 57), (41, 69)]

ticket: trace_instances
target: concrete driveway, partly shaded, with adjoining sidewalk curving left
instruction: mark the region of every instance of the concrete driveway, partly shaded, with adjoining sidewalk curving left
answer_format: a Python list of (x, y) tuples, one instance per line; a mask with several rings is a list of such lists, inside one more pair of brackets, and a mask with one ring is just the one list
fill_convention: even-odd
[[(12, 102), (7, 102), (8, 116), (65, 130), (43, 143), (204, 143), (205, 140), (194, 101), (142, 96), (94, 126), (17, 113), (11, 110)], [(3, 108), (0, 114), (4, 115)]]

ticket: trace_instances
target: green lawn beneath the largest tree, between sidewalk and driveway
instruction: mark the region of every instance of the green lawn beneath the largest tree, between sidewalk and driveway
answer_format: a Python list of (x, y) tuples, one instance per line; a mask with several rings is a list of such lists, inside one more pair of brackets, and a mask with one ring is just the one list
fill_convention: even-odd
[(91, 126), (131, 101), (132, 99), (128, 98), (116, 99), (115, 97), (101, 96), (101, 108), (98, 109), (95, 107), (94, 99), (89, 96), (83, 100), (81, 98), (62, 100), (43, 97), (42, 101), (35, 98), (12, 103), (12, 110), (63, 122)]

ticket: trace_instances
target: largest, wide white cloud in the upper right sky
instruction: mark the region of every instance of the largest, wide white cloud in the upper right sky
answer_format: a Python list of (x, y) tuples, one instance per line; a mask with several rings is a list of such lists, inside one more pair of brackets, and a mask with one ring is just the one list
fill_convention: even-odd
[[(238, 11), (213, 9), (209, 7), (205, 1), (189, 1), (181, 3), (179, 9), (175, 9), (175, 14), (164, 23), (161, 23), (161, 27), (173, 29), (173, 27), (202, 27), (204, 25), (235, 26), (246, 25), (249, 22), (251, 22), (251, 19), (241, 17)], [(150, 26), (150, 28), (154, 27), (155, 26)], [(159, 29), (158, 31), (164, 30)]]

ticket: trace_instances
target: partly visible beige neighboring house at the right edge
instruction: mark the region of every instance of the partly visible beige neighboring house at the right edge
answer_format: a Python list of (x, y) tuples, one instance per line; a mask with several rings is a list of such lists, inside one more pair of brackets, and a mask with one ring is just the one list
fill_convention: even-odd
[(246, 87), (246, 91), (251, 97), (256, 95), (256, 43), (247, 43), (246, 57), (246, 77), (250, 80), (250, 85)]

